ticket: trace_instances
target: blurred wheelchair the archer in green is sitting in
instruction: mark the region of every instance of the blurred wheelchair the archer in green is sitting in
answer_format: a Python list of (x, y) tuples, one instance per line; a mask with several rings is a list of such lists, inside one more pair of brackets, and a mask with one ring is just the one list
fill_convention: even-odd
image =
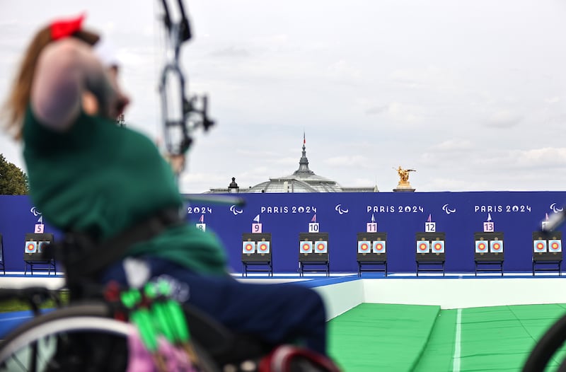
[[(119, 303), (88, 296), (39, 314), (40, 303), (54, 297), (54, 291), (42, 287), (0, 289), (0, 299), (23, 298), (37, 313), (1, 342), (0, 371), (132, 371), (129, 341), (136, 327), (117, 316), (125, 310)], [(330, 359), (306, 349), (232, 332), (194, 306), (183, 304), (183, 314), (197, 363), (192, 370), (175, 371), (339, 371)]]

